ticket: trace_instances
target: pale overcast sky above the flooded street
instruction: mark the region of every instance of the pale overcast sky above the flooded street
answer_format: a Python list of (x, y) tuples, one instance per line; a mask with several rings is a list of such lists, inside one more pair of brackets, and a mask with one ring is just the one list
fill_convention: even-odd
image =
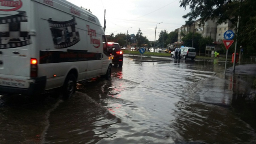
[[(168, 33), (180, 28), (190, 10), (180, 7), (180, 0), (68, 0), (77, 6), (90, 9), (103, 27), (106, 10), (105, 34), (137, 34), (139, 28), (150, 41), (158, 40), (161, 30)], [(132, 28), (131, 28), (132, 27)]]

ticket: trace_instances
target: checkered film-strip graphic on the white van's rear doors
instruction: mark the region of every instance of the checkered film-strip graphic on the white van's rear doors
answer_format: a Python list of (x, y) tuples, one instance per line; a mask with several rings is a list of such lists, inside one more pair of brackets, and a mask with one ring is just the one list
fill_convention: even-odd
[(16, 11), (17, 15), (0, 18), (0, 49), (16, 48), (31, 44), (28, 35), (27, 15), (25, 11)]

